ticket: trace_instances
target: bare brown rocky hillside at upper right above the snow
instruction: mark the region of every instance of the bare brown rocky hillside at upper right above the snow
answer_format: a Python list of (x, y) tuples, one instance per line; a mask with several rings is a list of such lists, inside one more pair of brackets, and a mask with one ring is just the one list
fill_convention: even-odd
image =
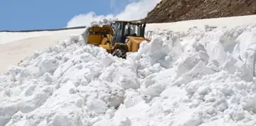
[(162, 0), (143, 20), (163, 23), (251, 14), (256, 14), (255, 0)]

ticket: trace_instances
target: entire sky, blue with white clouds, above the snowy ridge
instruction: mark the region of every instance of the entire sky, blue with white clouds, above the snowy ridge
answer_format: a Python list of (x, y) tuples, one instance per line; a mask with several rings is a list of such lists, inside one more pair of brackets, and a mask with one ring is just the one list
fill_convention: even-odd
[(145, 17), (159, 0), (0, 0), (0, 30), (78, 27), (92, 20)]

